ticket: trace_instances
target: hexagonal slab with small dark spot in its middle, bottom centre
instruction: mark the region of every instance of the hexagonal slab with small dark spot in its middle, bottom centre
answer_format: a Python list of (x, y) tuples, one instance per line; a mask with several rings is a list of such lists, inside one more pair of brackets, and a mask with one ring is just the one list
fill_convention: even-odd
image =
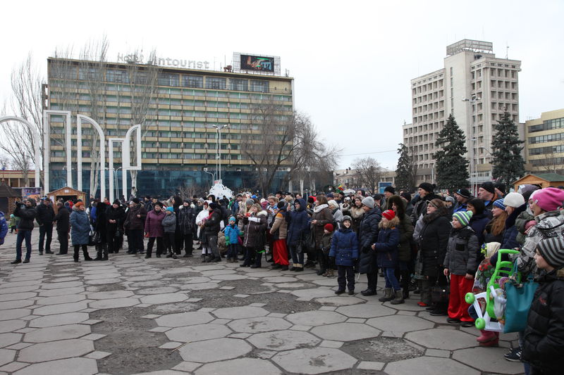
[(345, 352), (331, 348), (288, 350), (278, 353), (272, 357), (272, 360), (286, 371), (297, 374), (322, 374), (345, 370), (350, 369), (357, 362)]

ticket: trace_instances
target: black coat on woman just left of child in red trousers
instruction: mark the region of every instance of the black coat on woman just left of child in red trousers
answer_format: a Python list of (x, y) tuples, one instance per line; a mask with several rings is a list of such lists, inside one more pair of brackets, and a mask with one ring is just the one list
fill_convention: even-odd
[[(419, 261), (423, 263), (422, 274), (424, 276), (437, 277), (439, 266), (443, 265), (450, 234), (450, 222), (448, 217), (433, 212), (423, 217), (423, 228), (419, 232)], [(440, 271), (443, 271), (441, 267)]]

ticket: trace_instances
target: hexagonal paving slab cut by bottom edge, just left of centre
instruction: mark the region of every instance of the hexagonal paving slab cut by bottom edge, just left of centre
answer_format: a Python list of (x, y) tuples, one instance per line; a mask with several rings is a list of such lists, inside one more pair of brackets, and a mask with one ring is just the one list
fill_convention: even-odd
[(254, 358), (238, 358), (223, 362), (208, 363), (195, 371), (196, 375), (216, 374), (245, 374), (245, 375), (276, 375), (282, 374), (269, 361)]

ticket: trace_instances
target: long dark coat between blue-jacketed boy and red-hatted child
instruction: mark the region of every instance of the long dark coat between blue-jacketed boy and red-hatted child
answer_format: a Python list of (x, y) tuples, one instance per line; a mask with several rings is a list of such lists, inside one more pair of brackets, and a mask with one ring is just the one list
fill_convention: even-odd
[(376, 251), (371, 246), (378, 239), (378, 224), (382, 218), (378, 207), (369, 210), (362, 218), (358, 229), (358, 248), (360, 250), (359, 272), (372, 274), (378, 270)]

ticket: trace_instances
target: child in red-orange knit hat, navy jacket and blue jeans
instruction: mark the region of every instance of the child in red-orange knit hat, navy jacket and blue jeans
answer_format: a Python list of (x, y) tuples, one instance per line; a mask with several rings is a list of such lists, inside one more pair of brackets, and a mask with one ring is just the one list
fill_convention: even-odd
[(378, 224), (380, 229), (378, 241), (372, 245), (372, 250), (376, 250), (378, 265), (384, 270), (384, 279), (386, 279), (384, 297), (379, 298), (379, 301), (392, 301), (392, 305), (404, 302), (400, 283), (396, 278), (398, 245), (400, 244), (398, 224), (400, 224), (400, 220), (396, 217), (396, 212), (393, 212), (393, 210), (382, 212), (382, 220)]

